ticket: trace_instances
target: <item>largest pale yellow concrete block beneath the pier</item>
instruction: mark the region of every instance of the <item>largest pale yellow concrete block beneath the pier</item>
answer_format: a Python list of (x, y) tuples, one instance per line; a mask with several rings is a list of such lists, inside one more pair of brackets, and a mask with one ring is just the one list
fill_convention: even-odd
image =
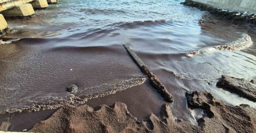
[(25, 17), (25, 16), (31, 16), (35, 12), (32, 5), (29, 3), (26, 3), (20, 6), (13, 7), (8, 10), (4, 10), (1, 13), (3, 16), (8, 16), (8, 17)]

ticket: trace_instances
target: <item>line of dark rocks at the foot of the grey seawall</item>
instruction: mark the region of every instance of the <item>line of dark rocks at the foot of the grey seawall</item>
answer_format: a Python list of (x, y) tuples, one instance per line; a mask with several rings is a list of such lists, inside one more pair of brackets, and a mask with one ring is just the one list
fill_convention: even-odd
[(184, 4), (185, 6), (197, 7), (201, 11), (208, 11), (213, 15), (217, 15), (226, 19), (256, 24), (256, 13), (253, 12), (241, 13), (238, 11), (229, 11), (226, 9), (216, 8), (208, 4), (194, 2), (191, 0), (186, 0), (185, 2), (181, 2), (180, 4)]

